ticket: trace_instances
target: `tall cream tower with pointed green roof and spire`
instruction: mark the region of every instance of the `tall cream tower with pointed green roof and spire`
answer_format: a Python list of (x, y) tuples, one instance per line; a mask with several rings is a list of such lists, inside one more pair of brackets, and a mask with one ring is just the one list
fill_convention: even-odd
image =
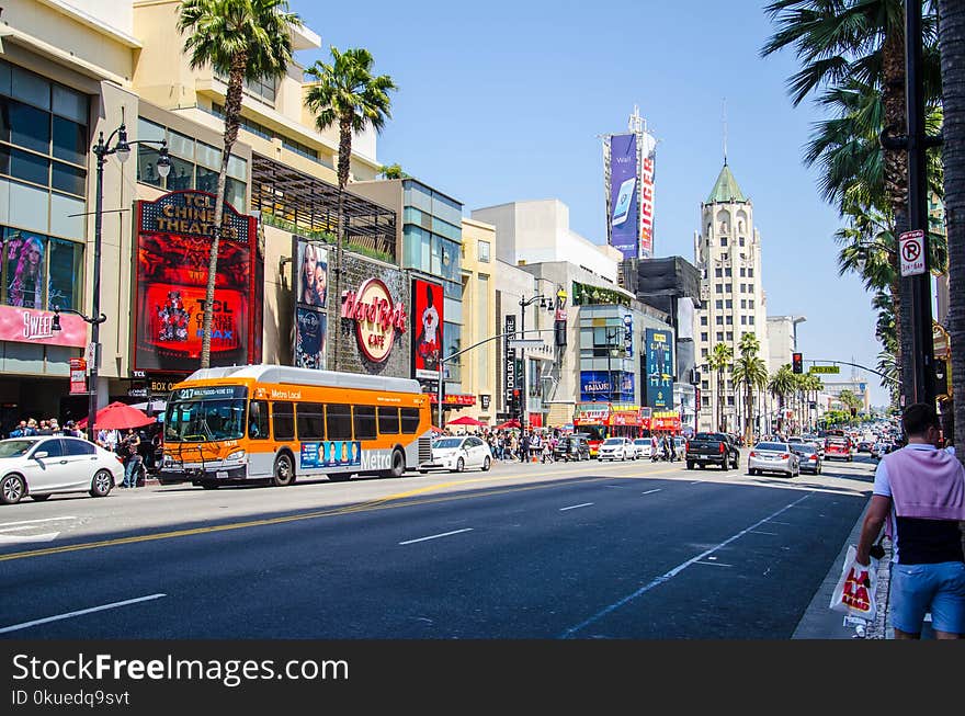
[[(701, 371), (699, 428), (739, 431), (743, 428), (743, 390), (734, 385), (729, 366), (722, 380), (711, 367), (711, 359), (717, 344), (730, 346), (736, 359), (740, 355), (740, 337), (752, 332), (761, 346), (758, 356), (768, 365), (768, 314), (753, 203), (740, 191), (726, 158), (714, 187), (701, 204), (701, 230), (694, 232), (694, 263), (701, 272), (702, 304), (695, 336)], [(723, 411), (718, 410), (720, 406)], [(754, 414), (760, 417), (761, 411), (756, 410)]]

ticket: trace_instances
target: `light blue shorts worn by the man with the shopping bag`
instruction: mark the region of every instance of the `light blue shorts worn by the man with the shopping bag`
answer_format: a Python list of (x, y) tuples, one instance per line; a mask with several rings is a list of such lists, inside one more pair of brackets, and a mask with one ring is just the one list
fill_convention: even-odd
[(892, 625), (908, 634), (920, 634), (926, 612), (932, 628), (965, 634), (965, 562), (892, 565)]

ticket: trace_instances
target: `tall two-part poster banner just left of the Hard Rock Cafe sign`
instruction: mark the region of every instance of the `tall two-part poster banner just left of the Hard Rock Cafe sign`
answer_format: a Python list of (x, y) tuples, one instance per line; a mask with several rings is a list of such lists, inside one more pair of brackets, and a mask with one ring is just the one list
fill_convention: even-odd
[(323, 371), (328, 333), (328, 249), (298, 236), (292, 237), (295, 257), (295, 367)]

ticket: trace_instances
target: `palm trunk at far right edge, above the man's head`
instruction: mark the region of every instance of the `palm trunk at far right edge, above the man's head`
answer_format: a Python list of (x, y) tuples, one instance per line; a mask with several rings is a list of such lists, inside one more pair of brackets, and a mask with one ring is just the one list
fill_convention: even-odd
[[(942, 158), (945, 166), (945, 218), (949, 230), (949, 281), (965, 286), (965, 3), (939, 0), (939, 49), (942, 56)], [(952, 393), (965, 395), (965, 292), (950, 292)], [(955, 445), (965, 445), (965, 400), (954, 401)], [(957, 432), (962, 432), (958, 437)], [(958, 459), (965, 448), (957, 447)]]

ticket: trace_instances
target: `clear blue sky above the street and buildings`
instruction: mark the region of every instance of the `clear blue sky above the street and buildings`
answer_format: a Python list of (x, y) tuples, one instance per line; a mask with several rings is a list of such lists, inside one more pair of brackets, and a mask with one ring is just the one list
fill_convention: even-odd
[[(693, 261), (700, 204), (727, 156), (753, 202), (769, 315), (804, 315), (805, 360), (874, 367), (871, 297), (838, 276), (839, 220), (817, 193), (802, 147), (817, 112), (794, 109), (790, 52), (761, 59), (773, 29), (763, 3), (613, 0), (490, 0), (484, 4), (372, 0), (292, 10), (321, 36), (305, 66), (330, 45), (366, 47), (375, 71), (399, 86), (378, 160), (474, 208), (558, 198), (571, 228), (605, 242), (598, 135), (626, 129), (634, 104), (658, 138), (657, 255)], [(842, 375), (850, 368), (842, 366)], [(884, 405), (878, 378), (872, 402)]]

